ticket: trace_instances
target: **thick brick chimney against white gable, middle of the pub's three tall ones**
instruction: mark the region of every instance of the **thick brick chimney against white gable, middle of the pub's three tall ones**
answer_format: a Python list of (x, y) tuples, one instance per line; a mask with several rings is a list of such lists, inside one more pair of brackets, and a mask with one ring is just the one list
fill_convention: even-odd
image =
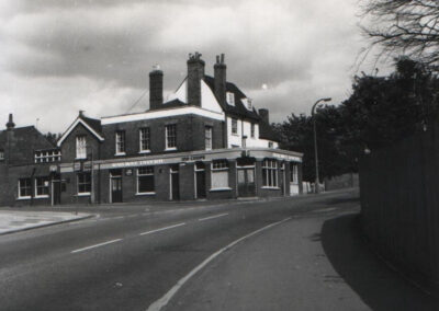
[(204, 79), (204, 60), (201, 54), (189, 54), (188, 59), (188, 104), (201, 106), (201, 80)]

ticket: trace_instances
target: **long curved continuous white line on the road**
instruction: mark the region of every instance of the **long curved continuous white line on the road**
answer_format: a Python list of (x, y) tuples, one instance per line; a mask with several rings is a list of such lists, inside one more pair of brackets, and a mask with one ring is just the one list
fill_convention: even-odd
[(219, 256), (222, 253), (224, 253), (225, 251), (232, 249), (233, 246), (235, 246), (236, 244), (238, 244), (239, 242), (261, 232), (264, 231), (267, 229), (270, 229), (271, 227), (281, 224), (285, 221), (291, 220), (292, 218), (285, 218), (281, 221), (277, 221), (273, 223), (270, 223), (266, 227), (262, 227), (243, 238), (239, 238), (238, 240), (232, 242), (230, 244), (228, 244), (227, 246), (221, 249), (219, 251), (213, 253), (212, 255), (210, 255), (204, 262), (202, 262), (200, 265), (198, 265), (196, 267), (194, 267), (188, 275), (185, 275), (183, 278), (181, 278), (167, 293), (165, 293), (164, 297), (161, 297), (160, 299), (156, 300), (155, 302), (153, 302), (153, 304), (149, 306), (149, 308), (147, 309), (147, 311), (159, 311), (161, 310), (161, 308), (164, 308), (166, 304), (168, 304), (169, 300), (171, 300), (171, 298), (177, 293), (177, 291), (179, 291), (179, 289), (191, 278), (193, 277), (199, 270), (201, 270), (202, 268), (204, 268), (210, 262), (212, 262), (213, 260), (215, 260), (217, 256)]

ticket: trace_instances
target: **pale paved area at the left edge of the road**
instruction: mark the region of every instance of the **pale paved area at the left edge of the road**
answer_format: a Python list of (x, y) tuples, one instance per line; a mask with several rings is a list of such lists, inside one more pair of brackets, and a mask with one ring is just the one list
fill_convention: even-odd
[(0, 234), (90, 218), (86, 212), (0, 210)]

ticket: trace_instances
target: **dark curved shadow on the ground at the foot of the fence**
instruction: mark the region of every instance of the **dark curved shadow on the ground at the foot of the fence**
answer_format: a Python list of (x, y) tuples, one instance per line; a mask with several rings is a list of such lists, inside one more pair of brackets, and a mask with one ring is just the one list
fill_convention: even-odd
[(438, 301), (370, 252), (361, 239), (357, 214), (325, 221), (322, 244), (339, 276), (372, 310), (439, 310)]

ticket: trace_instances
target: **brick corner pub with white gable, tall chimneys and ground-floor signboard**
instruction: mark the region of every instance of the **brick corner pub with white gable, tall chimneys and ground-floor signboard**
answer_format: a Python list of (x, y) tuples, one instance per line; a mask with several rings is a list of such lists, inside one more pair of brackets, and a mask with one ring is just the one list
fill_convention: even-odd
[[(214, 77), (204, 73), (199, 53), (190, 54), (187, 64), (185, 79), (167, 101), (164, 72), (155, 67), (149, 73), (148, 111), (101, 119), (80, 112), (56, 147), (35, 149), (32, 168), (47, 173), (46, 203), (301, 194), (302, 154), (279, 149), (268, 110), (257, 111), (226, 80), (224, 55), (216, 57)], [(15, 201), (37, 201), (41, 181), (32, 174), (30, 169), (12, 174)]]

